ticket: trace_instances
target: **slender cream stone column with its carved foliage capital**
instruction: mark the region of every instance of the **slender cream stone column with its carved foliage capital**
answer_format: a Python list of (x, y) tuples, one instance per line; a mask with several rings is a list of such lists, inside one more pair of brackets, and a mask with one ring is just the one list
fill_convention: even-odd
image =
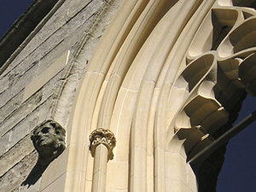
[(106, 191), (108, 160), (113, 160), (113, 148), (116, 140), (113, 132), (96, 129), (90, 134), (90, 153), (95, 158), (92, 177), (92, 192)]

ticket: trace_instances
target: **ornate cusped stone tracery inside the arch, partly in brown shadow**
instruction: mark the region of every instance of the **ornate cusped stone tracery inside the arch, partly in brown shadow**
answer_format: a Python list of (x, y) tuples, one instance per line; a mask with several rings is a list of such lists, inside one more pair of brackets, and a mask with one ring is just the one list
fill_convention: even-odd
[(251, 9), (218, 3), (212, 7), (190, 44), (188, 64), (177, 81), (185, 80), (189, 86), (187, 102), (177, 115), (177, 130), (200, 125), (214, 134), (228, 123), (237, 103), (241, 105), (245, 90), (255, 95), (255, 16)]

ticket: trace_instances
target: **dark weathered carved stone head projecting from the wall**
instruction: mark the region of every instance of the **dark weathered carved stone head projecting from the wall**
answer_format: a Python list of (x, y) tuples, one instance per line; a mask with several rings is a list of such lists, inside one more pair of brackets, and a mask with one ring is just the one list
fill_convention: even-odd
[(32, 133), (32, 142), (37, 149), (38, 161), (42, 166), (58, 157), (66, 148), (66, 131), (55, 120), (45, 120)]

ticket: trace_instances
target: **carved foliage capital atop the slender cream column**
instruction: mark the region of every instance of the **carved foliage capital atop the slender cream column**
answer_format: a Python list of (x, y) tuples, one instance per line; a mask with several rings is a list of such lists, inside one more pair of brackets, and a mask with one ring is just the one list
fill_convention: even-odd
[(113, 160), (113, 148), (116, 145), (113, 132), (102, 128), (92, 131), (90, 134), (90, 152), (93, 157), (99, 144), (103, 144), (108, 148), (108, 160)]

